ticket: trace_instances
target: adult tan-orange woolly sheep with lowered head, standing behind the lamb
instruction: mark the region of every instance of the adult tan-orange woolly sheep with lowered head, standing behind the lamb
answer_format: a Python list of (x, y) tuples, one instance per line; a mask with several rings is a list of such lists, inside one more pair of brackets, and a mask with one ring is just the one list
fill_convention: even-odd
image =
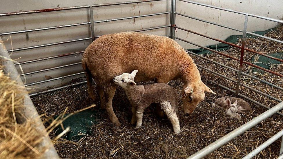
[(88, 94), (94, 100), (92, 78), (101, 108), (106, 108), (112, 123), (121, 126), (112, 108), (116, 91), (113, 78), (124, 72), (139, 70), (135, 81), (167, 83), (181, 78), (183, 112), (190, 115), (204, 92), (214, 93), (201, 80), (199, 70), (191, 56), (173, 39), (137, 32), (121, 32), (100, 36), (84, 51), (82, 67), (86, 73)]

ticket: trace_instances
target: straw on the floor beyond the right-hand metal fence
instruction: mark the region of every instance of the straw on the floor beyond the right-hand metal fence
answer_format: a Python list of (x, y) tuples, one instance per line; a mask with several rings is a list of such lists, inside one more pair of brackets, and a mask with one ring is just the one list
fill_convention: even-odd
[[(271, 32), (266, 33), (265, 36), (268, 36), (268, 37), (282, 41), (283, 40), (283, 25), (279, 26), (277, 29), (275, 29)], [(242, 39), (239, 39), (237, 45), (242, 45)], [(248, 38), (248, 39), (246, 39), (246, 46), (245, 47), (247, 47), (249, 49), (253, 49), (257, 52), (262, 52), (264, 54), (283, 52), (283, 44), (273, 42), (273, 41), (270, 41), (270, 40), (266, 40), (266, 39), (263, 39), (263, 38), (255, 38), (255, 39), (254, 38)], [(240, 59), (241, 50), (239, 48), (232, 47), (229, 50), (223, 50), (222, 53), (225, 53), (225, 54), (228, 54), (230, 56), (234, 56), (234, 57), (237, 57), (237, 58)], [(254, 55), (255, 55), (255, 59), (258, 59), (257, 54), (245, 51), (244, 52), (244, 61), (251, 62), (252, 56), (254, 56)], [(216, 53), (213, 53), (213, 54), (210, 54), (210, 55), (204, 55), (204, 56), (209, 58), (209, 59), (212, 59), (214, 61), (217, 61), (219, 63), (222, 63), (224, 65), (233, 67), (237, 70), (239, 69), (240, 62), (229, 59), (225, 56), (222, 56), (222, 55), (219, 55), (219, 54), (216, 54)], [(192, 55), (192, 58), (195, 60), (195, 62), (197, 64), (199, 64), (201, 66), (207, 67), (210, 70), (213, 70), (217, 73), (220, 73), (220, 74), (225, 75), (227, 77), (230, 77), (234, 80), (237, 80), (238, 73), (235, 72), (235, 71), (229, 70), (225, 67), (217, 65), (217, 64), (212, 63), (210, 61), (203, 60), (203, 59), (201, 59), (197, 56), (194, 56), (194, 55)], [(273, 83), (273, 84), (275, 84), (279, 87), (283, 87), (283, 78), (282, 77), (276, 76), (276, 75), (268, 73), (268, 72), (265, 72), (265, 73), (255, 73), (254, 72), (253, 73), (252, 69), (253, 69), (253, 67), (248, 66), (246, 64), (243, 64), (243, 72), (245, 72), (247, 74), (251, 74), (251, 75), (258, 77), (260, 79), (263, 79), (263, 80), (265, 80), (269, 83)], [(199, 70), (202, 70), (202, 69), (200, 68)], [(273, 64), (273, 65), (271, 65), (271, 70), (274, 71), (274, 72), (278, 72), (278, 73), (282, 74), (283, 64), (277, 64), (277, 65)], [(226, 86), (230, 89), (236, 90), (235, 89), (236, 85), (237, 85), (236, 83), (228, 81), (224, 78), (220, 78), (217, 75), (210, 73), (210, 72), (207, 72), (207, 71), (204, 71), (203, 75), (205, 76), (206, 79), (210, 79), (210, 80), (218, 82), (218, 83), (220, 83), (220, 84), (222, 84), (222, 85), (224, 85), (224, 86)], [(257, 81), (255, 79), (252, 79), (252, 78), (244, 76), (244, 75), (242, 75), (241, 83), (248, 85), (250, 87), (253, 87), (253, 88), (255, 88), (259, 91), (262, 91), (266, 94), (269, 94), (269, 95), (271, 95), (271, 96), (273, 96), (273, 97), (275, 97), (279, 100), (283, 100), (283, 96), (282, 96), (283, 91), (280, 90), (280, 89), (266, 85), (266, 84), (264, 84), (260, 81)], [(243, 86), (240, 86), (240, 92), (239, 93), (244, 94), (245, 96), (248, 96), (249, 98), (252, 98), (252, 99), (254, 99), (254, 100), (256, 100), (256, 101), (258, 101), (258, 102), (260, 102), (264, 105), (270, 106), (270, 107), (279, 103), (279, 102), (277, 102), (277, 101), (275, 101), (271, 98), (265, 97), (261, 94), (258, 94), (257, 92), (254, 92), (253, 90), (245, 88)]]

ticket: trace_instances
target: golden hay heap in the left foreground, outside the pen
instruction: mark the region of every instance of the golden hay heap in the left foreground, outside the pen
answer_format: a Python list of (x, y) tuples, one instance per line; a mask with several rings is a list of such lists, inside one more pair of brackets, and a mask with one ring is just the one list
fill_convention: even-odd
[(39, 158), (45, 151), (39, 148), (43, 136), (32, 121), (17, 123), (24, 89), (5, 76), (0, 68), (0, 158)]

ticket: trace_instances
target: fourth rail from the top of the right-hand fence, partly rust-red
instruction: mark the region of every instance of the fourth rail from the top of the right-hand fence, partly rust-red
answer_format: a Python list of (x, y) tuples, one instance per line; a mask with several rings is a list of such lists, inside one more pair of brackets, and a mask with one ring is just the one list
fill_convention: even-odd
[[(192, 44), (192, 45), (195, 45), (195, 46), (198, 46), (198, 47), (204, 48), (204, 49), (209, 50), (209, 51), (211, 51), (211, 52), (215, 52), (215, 53), (217, 53), (217, 54), (220, 54), (220, 55), (226, 56), (226, 57), (231, 58), (231, 59), (233, 59), (233, 60), (240, 61), (240, 59), (238, 59), (238, 58), (235, 58), (235, 57), (233, 57), (233, 56), (230, 56), (230, 55), (224, 54), (224, 53), (222, 53), (222, 52), (219, 52), (219, 51), (216, 51), (216, 50), (210, 49), (210, 48), (208, 48), (208, 47), (204, 47), (204, 46), (202, 46), (202, 45), (198, 45), (198, 44), (196, 44), (196, 43), (193, 43), (193, 42), (190, 42), (190, 41), (187, 41), (187, 40), (184, 40), (184, 39), (178, 38), (178, 37), (175, 37), (175, 38), (176, 38), (176, 39), (179, 39), (179, 40), (181, 40), (181, 41), (184, 41), (184, 42), (190, 43), (190, 44)], [(247, 64), (247, 65), (250, 65), (250, 66), (253, 66), (253, 67), (255, 67), (255, 68), (258, 68), (258, 69), (260, 69), (260, 70), (264, 70), (264, 71), (266, 71), (266, 72), (269, 72), (269, 73), (275, 74), (275, 75), (277, 75), (277, 76), (283, 77), (283, 75), (282, 75), (282, 74), (279, 74), (279, 73), (277, 73), (277, 72), (274, 72), (274, 71), (268, 70), (268, 69), (266, 69), (266, 68), (263, 68), (263, 67), (257, 66), (257, 65), (255, 65), (255, 64), (249, 63), (249, 62), (247, 62), (247, 61), (243, 61), (243, 63), (245, 63), (245, 64)]]

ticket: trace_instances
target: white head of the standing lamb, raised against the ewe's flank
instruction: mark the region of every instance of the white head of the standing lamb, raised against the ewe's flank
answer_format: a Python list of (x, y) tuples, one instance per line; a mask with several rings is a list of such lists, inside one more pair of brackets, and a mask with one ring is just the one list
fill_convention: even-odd
[(137, 70), (134, 70), (131, 74), (123, 73), (120, 76), (114, 77), (113, 82), (123, 89), (126, 89), (127, 87), (136, 85), (136, 83), (134, 82), (136, 74)]

